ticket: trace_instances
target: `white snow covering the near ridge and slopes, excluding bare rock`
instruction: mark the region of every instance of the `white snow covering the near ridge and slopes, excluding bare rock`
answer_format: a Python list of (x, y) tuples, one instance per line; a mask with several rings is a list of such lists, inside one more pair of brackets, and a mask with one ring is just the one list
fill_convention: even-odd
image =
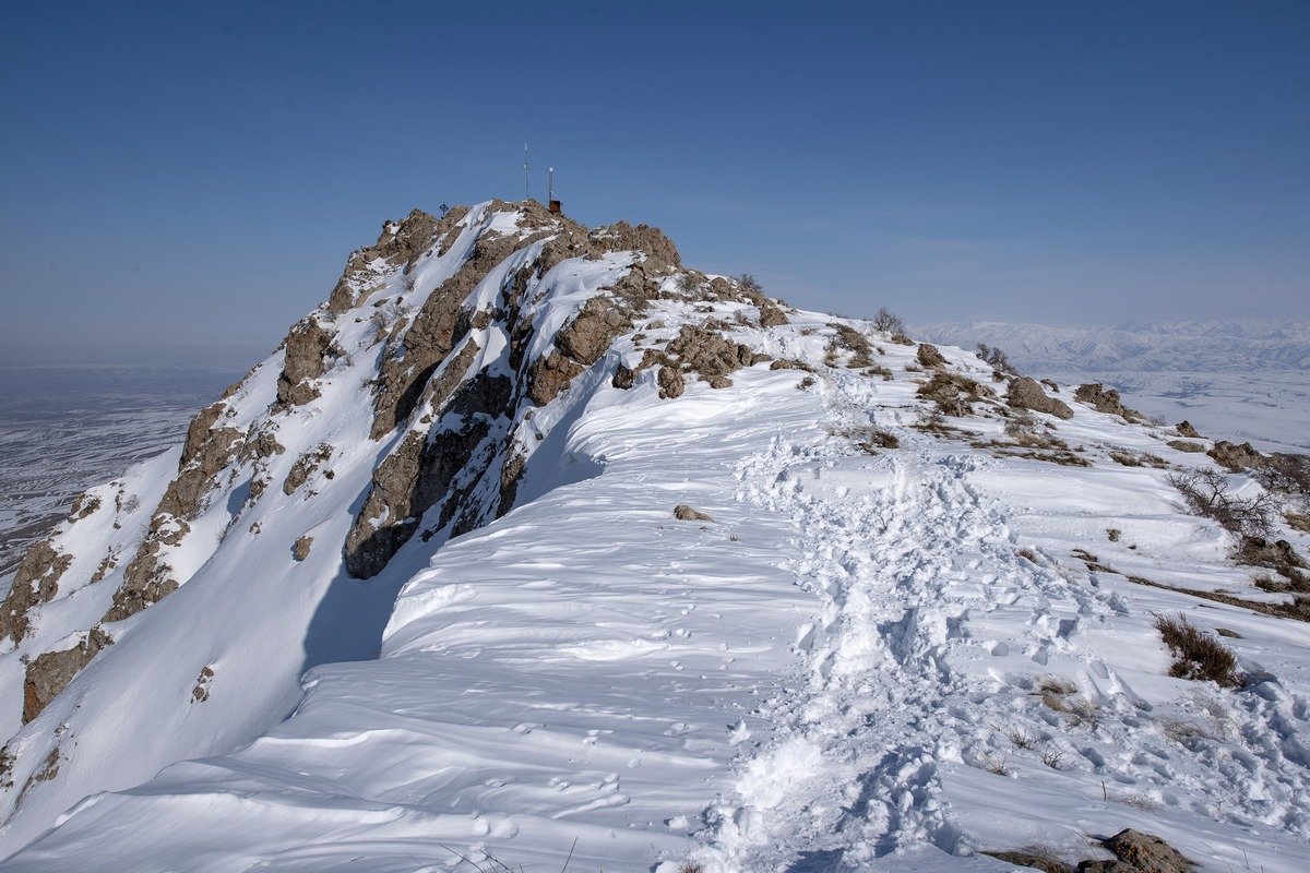
[[(419, 271), (452, 275), (493, 226), (514, 215), (474, 208), (462, 242)], [(544, 335), (639, 258), (540, 276)], [(493, 297), (479, 284), (470, 306)], [(528, 873), (1003, 870), (977, 852), (1077, 861), (1123, 827), (1204, 870), (1310, 865), (1306, 626), (1129, 579), (1276, 599), (1166, 469), (1110, 457), (1210, 466), (1204, 454), (1072, 403), (1068, 386), (1072, 419), (1035, 418), (1089, 466), (998, 453), (1006, 419), (985, 404), (933, 433), (916, 347), (855, 321), (752, 314), (652, 302), (523, 421), (534, 450), (508, 514), (414, 538), (367, 582), (342, 576), (335, 543), (385, 446), (358, 412), (369, 322), (343, 319), (355, 344), (320, 399), (284, 414), (272, 462), (280, 480), (330, 438), (346, 455), (334, 479), (308, 499), (216, 499), (195, 522), (240, 535), (193, 541), (214, 544), (186, 584), (13, 741), (28, 747), (16, 784), (51, 737), (62, 764), (0, 831), (17, 852), (0, 869), (415, 873), (490, 856)], [(676, 399), (659, 398), (656, 368), (612, 385), (643, 344), (710, 318), (814, 372), (764, 361)], [(850, 366), (836, 323), (889, 378)], [(495, 339), (473, 335), (474, 366), (504, 372)], [(992, 383), (971, 352), (942, 353)], [(267, 407), (278, 366), (248, 378), (238, 424)], [(899, 445), (870, 446), (875, 429)], [(124, 488), (153, 504), (161, 475), (140, 467)], [(679, 521), (677, 504), (711, 520)], [(297, 563), (305, 531), (331, 546)], [(83, 615), (103, 610), (97, 585)], [(38, 641), (77, 627), (73, 606), (48, 607)], [(1233, 633), (1247, 682), (1170, 678), (1154, 622), (1176, 614)], [(191, 704), (203, 665), (208, 696)]]

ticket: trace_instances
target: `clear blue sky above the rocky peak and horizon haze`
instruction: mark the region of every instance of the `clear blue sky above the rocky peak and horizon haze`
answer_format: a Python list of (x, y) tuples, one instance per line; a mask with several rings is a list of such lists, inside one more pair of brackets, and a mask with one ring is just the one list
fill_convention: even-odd
[(1305, 1), (10, 4), (0, 123), (5, 364), (250, 364), (525, 139), (806, 308), (1310, 317)]

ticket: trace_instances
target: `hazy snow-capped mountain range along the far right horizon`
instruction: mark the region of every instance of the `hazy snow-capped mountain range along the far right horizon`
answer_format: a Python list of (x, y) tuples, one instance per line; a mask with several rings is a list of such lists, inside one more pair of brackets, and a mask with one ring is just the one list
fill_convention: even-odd
[(1001, 347), (1028, 370), (1306, 370), (1310, 321), (1167, 321), (1117, 327), (931, 322), (916, 336)]

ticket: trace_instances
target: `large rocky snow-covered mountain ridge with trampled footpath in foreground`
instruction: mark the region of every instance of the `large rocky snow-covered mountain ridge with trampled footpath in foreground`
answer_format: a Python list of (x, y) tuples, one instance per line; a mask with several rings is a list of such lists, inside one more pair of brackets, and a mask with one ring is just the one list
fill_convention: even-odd
[[(0, 869), (1003, 870), (1124, 827), (1303, 869), (1306, 509), (1238, 563), (1167, 476), (1273, 461), (1188, 433), (654, 228), (415, 211), (20, 565)], [(1241, 678), (1171, 675), (1179, 614)]]

